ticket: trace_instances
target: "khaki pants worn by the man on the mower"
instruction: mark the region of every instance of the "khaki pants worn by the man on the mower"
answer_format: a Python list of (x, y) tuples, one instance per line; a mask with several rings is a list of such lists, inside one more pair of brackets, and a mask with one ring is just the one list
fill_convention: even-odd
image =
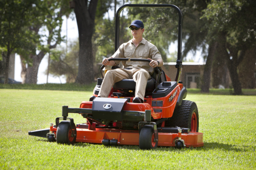
[(147, 81), (150, 79), (150, 75), (143, 69), (115, 69), (107, 71), (98, 96), (108, 97), (114, 83), (123, 79), (133, 79), (136, 82), (135, 97), (144, 99)]

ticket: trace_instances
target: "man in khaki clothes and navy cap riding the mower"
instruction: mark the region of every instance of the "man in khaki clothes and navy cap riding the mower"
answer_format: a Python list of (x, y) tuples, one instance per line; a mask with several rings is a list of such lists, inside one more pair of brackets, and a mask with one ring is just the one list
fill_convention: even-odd
[[(123, 79), (133, 79), (136, 82), (135, 97), (133, 103), (143, 103), (147, 80), (153, 74), (154, 67), (162, 66), (163, 60), (155, 45), (142, 38), (144, 24), (140, 20), (135, 20), (130, 27), (133, 38), (127, 43), (122, 44), (116, 53), (110, 58), (142, 58), (151, 60), (148, 62), (122, 61), (124, 69), (107, 71), (101, 84), (99, 97), (108, 97), (115, 82)], [(103, 60), (103, 65), (114, 66), (120, 61)]]

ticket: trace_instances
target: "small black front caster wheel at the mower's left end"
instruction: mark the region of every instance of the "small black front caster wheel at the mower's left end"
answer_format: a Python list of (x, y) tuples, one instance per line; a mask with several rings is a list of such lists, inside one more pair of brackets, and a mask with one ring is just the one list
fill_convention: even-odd
[[(74, 126), (75, 127), (75, 126)], [(75, 135), (72, 136), (72, 130), (69, 121), (62, 121), (58, 125), (56, 140), (59, 144), (74, 144), (76, 142), (76, 128)]]

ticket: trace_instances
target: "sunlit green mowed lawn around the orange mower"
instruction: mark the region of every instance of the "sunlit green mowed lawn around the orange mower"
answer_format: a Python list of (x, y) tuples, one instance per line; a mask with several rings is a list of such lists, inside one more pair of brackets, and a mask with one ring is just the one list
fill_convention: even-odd
[[(49, 128), (61, 106), (79, 107), (89, 91), (0, 89), (0, 169), (255, 169), (256, 96), (188, 94), (199, 111), (204, 147), (57, 145), (28, 131)], [(75, 123), (85, 121), (69, 114)]]

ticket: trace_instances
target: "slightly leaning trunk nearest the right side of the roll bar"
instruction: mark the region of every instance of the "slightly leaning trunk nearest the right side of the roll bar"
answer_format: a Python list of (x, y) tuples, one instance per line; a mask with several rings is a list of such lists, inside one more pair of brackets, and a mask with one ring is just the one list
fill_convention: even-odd
[(201, 92), (209, 92), (210, 82), (211, 82), (212, 61), (214, 58), (217, 44), (218, 44), (217, 42), (213, 42), (209, 45), (208, 56), (207, 56), (206, 63), (204, 66), (204, 75), (203, 75)]

